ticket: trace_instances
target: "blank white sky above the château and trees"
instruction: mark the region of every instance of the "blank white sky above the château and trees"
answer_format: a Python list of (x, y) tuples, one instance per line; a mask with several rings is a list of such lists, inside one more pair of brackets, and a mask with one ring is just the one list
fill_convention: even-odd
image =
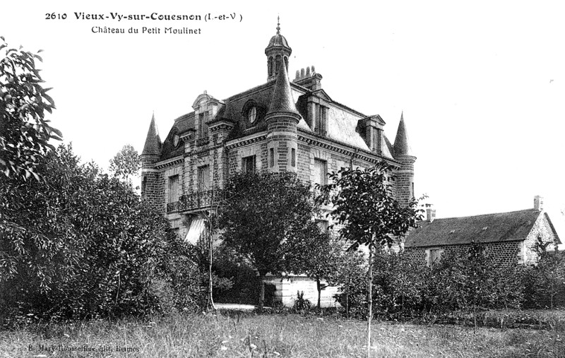
[[(417, 155), (416, 191), (438, 217), (545, 208), (565, 241), (565, 4), (562, 1), (10, 1), (0, 35), (44, 49), (53, 126), (102, 167), (141, 152), (153, 111), (164, 139), (207, 90), (219, 99), (266, 81), (281, 34), (289, 72), (314, 65), (326, 92), (396, 136), (400, 112)], [(234, 20), (76, 20), (74, 12), (236, 13)], [(66, 20), (46, 20), (46, 13)], [(201, 28), (201, 35), (95, 34), (93, 26)]]

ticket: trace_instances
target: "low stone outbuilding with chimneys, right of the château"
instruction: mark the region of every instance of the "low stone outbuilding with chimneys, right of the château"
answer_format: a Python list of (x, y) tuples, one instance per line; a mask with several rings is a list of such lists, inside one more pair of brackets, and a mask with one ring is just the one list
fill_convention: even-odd
[(404, 242), (404, 251), (413, 261), (432, 263), (448, 251), (467, 250), (472, 243), (483, 244), (485, 252), (503, 265), (537, 262), (538, 238), (548, 248), (561, 244), (549, 215), (542, 210), (542, 198), (535, 197), (533, 209), (435, 219), (427, 208), (427, 220), (418, 223)]

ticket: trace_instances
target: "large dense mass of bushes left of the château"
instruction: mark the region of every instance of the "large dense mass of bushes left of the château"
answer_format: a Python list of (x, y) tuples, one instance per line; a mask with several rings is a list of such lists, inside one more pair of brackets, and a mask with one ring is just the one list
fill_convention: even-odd
[(80, 165), (70, 146), (37, 172), (44, 180), (0, 182), (0, 304), (55, 318), (145, 314), (159, 308), (157, 278), (198, 297), (195, 253), (131, 186)]

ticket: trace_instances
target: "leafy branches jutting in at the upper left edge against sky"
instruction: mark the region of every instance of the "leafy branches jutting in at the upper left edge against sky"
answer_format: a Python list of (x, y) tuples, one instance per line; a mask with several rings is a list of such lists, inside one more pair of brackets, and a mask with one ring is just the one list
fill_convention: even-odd
[(55, 108), (54, 101), (35, 68), (41, 57), (8, 47), (4, 37), (0, 39), (0, 172), (4, 177), (39, 179), (37, 166), (53, 148), (49, 139), (62, 137), (45, 119), (45, 111)]

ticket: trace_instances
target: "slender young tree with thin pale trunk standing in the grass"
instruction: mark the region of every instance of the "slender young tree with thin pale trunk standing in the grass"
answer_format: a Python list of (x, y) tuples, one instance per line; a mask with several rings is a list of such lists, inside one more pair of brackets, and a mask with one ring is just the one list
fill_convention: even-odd
[[(352, 244), (350, 249), (365, 245), (369, 249), (368, 297), (372, 297), (372, 261), (375, 248), (392, 246), (395, 237), (402, 237), (420, 218), (417, 200), (406, 206), (400, 205), (393, 196), (386, 178), (393, 167), (379, 162), (367, 169), (344, 168), (329, 175), (333, 184), (323, 186), (321, 191), (334, 205), (332, 215), (343, 227), (340, 234)], [(371, 343), (372, 299), (369, 299), (369, 332), (367, 354)]]

